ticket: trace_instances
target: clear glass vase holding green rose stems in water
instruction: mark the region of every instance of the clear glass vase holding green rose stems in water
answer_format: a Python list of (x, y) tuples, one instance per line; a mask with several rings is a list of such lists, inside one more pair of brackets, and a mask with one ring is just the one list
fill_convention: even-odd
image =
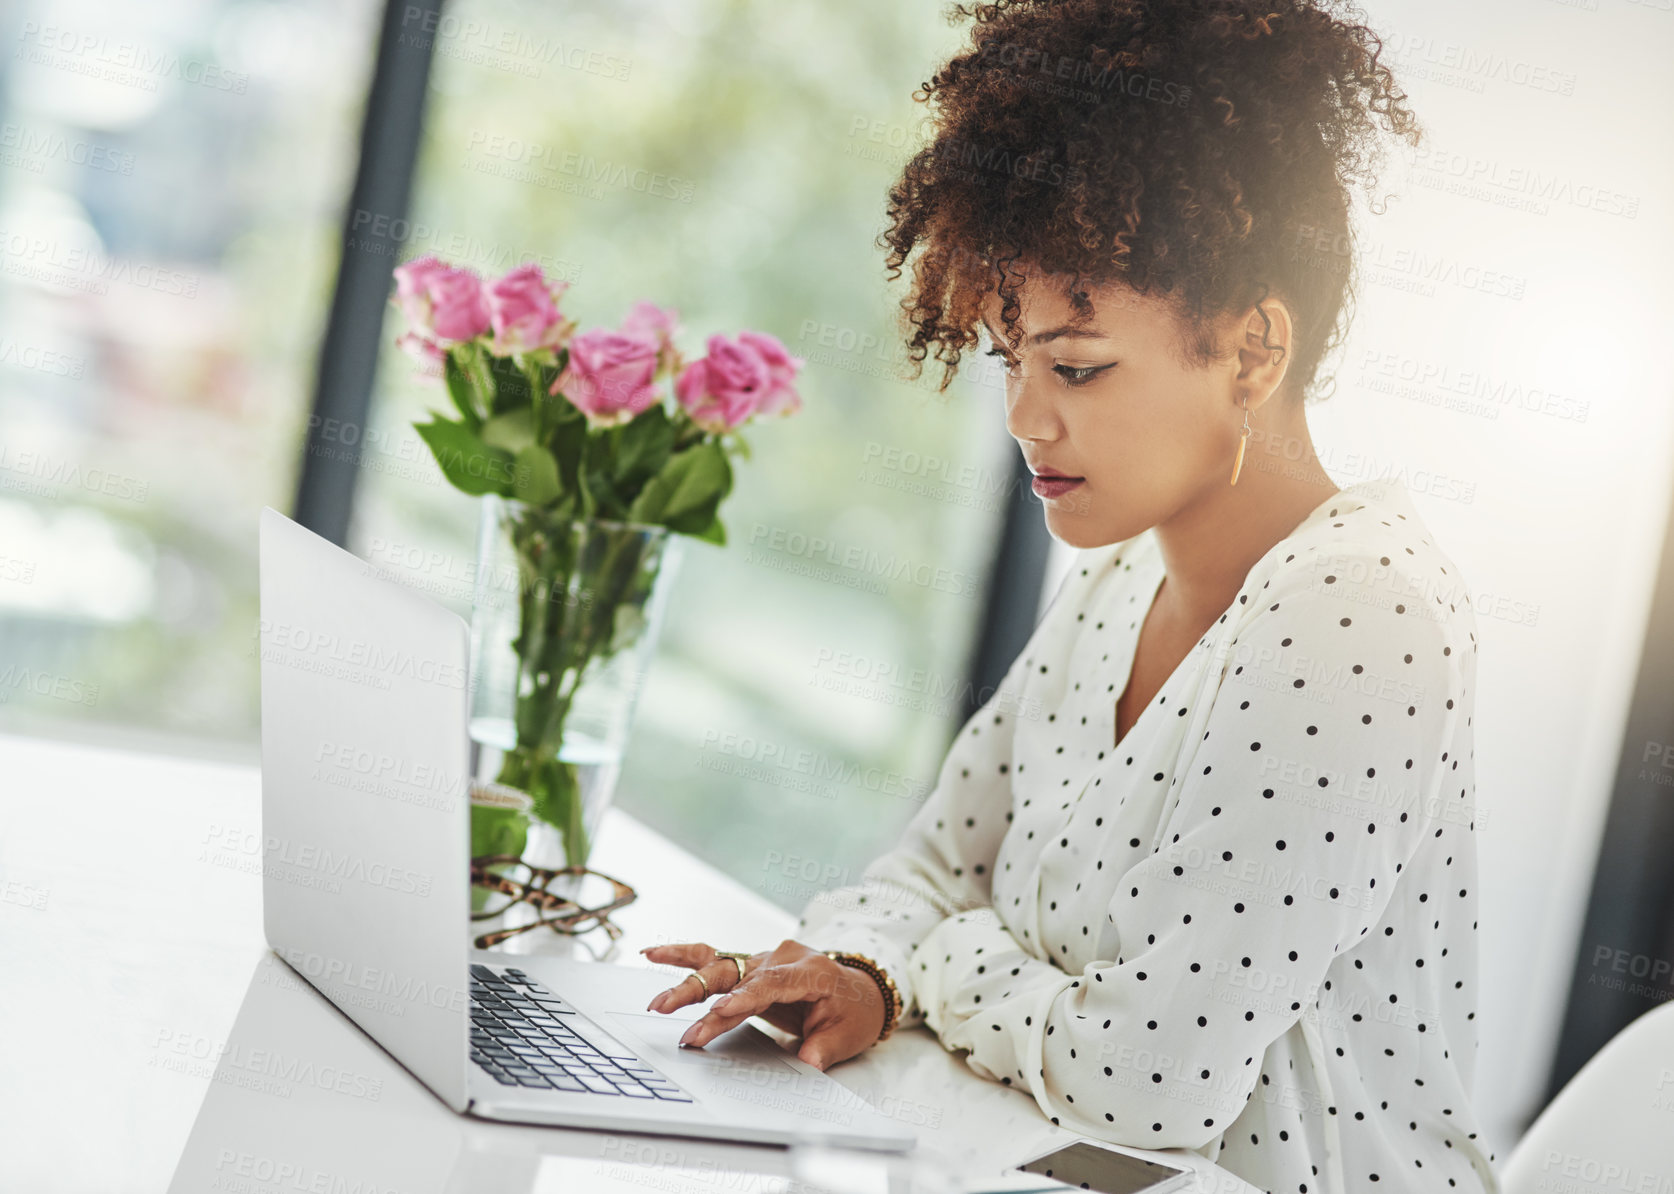
[(472, 807), (474, 856), (586, 864), (621, 774), (678, 559), (668, 528), (482, 499), (470, 615), (472, 775), (526, 792), (532, 807)]

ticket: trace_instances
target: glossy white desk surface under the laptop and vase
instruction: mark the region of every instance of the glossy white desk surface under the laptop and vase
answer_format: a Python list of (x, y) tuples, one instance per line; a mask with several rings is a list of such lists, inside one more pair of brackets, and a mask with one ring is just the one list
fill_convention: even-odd
[[(752, 1187), (711, 1167), (785, 1172), (785, 1152), (767, 1145), (449, 1112), (268, 953), (259, 792), (251, 765), (0, 735), (0, 1191), (152, 1194), (177, 1174), (177, 1187), (204, 1174), (203, 1189), (214, 1177), (234, 1191), (343, 1179), (380, 1194), (546, 1194), (633, 1187), (636, 1171), (623, 1166), (648, 1159), (661, 1161), (660, 1189), (678, 1189), (665, 1179), (686, 1166), (701, 1171), (690, 1189), (742, 1191)], [(593, 862), (639, 893), (616, 916), (626, 934), (608, 960), (621, 965), (646, 966), (638, 950), (656, 941), (763, 948), (795, 926), (621, 811)], [(603, 933), (588, 941), (608, 946)], [(661, 970), (670, 983), (685, 973)], [(323, 1055), (353, 1075), (350, 1094), (216, 1080), (209, 1058), (229, 1042), (248, 1048), (251, 1032), (266, 1033), (258, 1045), (280, 1037), (280, 1048)], [(1073, 1139), (924, 1028), (829, 1073), (911, 1124), (927, 1159), (999, 1167)], [(1148, 1155), (1197, 1169), (1199, 1191), (1254, 1191), (1194, 1154)], [(276, 1184), (278, 1172), (290, 1184)]]

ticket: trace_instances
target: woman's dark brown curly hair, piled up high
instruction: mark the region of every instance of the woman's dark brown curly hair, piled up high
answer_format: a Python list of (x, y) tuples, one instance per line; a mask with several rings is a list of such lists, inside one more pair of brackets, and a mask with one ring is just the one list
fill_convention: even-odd
[(1024, 263), (1081, 315), (1085, 283), (1163, 298), (1199, 367), (1219, 355), (1212, 320), (1281, 295), (1296, 318), (1284, 389), (1306, 400), (1348, 322), (1349, 188), (1376, 188), (1383, 127), (1421, 139), (1361, 13), (998, 0), (947, 10), (961, 17), (969, 45), (914, 92), (932, 139), (889, 188), (879, 236), (891, 278), (921, 250), (901, 300), (914, 375), (936, 345), (947, 389), (996, 288), (1016, 348)]

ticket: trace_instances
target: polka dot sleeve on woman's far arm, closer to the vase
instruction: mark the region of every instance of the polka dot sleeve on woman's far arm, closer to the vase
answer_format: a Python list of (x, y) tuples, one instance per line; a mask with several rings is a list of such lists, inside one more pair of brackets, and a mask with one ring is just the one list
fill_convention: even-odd
[(936, 785), (901, 841), (865, 867), (860, 881), (814, 896), (797, 939), (819, 950), (864, 953), (901, 991), (897, 1028), (924, 1022), (909, 958), (954, 913), (991, 901), (994, 854), (1011, 824), (1011, 745), (1019, 717), (1045, 717), (1024, 693), (1024, 673), (1055, 611), (1078, 600), (1088, 569), (1071, 568), (1030, 641), (993, 695), (954, 735)]

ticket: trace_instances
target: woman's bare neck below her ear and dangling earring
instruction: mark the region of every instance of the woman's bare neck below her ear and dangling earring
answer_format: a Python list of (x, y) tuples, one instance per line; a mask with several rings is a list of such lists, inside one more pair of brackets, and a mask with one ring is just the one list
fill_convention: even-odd
[[(1264, 407), (1281, 405), (1264, 402)], [(1167, 521), (1157, 524), (1165, 578), (1157, 594), (1187, 620), (1219, 615), (1250, 568), (1331, 494), (1339, 492), (1314, 455), (1301, 409), (1272, 412), (1272, 425), (1250, 414), (1239, 482), (1232, 457)]]

